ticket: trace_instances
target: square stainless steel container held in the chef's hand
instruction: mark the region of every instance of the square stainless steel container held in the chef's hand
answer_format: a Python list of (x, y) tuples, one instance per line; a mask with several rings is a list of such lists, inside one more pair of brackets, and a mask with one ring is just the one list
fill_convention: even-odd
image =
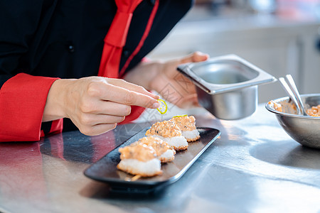
[(178, 70), (197, 85), (198, 102), (218, 119), (250, 116), (257, 107), (257, 85), (276, 79), (238, 55), (188, 63)]

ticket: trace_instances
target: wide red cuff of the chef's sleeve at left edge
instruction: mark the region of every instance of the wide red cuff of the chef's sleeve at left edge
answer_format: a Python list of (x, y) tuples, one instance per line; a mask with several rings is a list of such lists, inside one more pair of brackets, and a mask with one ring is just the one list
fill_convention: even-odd
[[(43, 110), (51, 84), (58, 78), (19, 73), (0, 89), (0, 142), (39, 141)], [(51, 131), (61, 132), (62, 119)]]

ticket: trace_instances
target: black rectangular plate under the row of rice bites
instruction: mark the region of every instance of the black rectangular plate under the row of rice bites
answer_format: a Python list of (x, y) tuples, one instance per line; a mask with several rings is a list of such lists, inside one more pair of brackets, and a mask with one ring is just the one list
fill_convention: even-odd
[(120, 147), (129, 146), (131, 143), (138, 141), (139, 138), (145, 136), (146, 130), (139, 131), (137, 134), (129, 138), (122, 145), (114, 148), (113, 151), (107, 153), (103, 158), (96, 163), (90, 165), (85, 170), (85, 175), (93, 180), (107, 182), (110, 187), (117, 188), (117, 190), (151, 190), (159, 185), (166, 185), (176, 182), (181, 176), (186, 173), (186, 170), (199, 158), (199, 156), (206, 151), (213, 141), (220, 136), (220, 131), (211, 128), (198, 128), (201, 138), (198, 141), (189, 143), (186, 151), (179, 151), (175, 155), (174, 161), (164, 163), (161, 165), (163, 170), (162, 175), (157, 175), (152, 178), (139, 178), (135, 181), (128, 181), (134, 175), (129, 175), (117, 169), (117, 164), (120, 162)]

